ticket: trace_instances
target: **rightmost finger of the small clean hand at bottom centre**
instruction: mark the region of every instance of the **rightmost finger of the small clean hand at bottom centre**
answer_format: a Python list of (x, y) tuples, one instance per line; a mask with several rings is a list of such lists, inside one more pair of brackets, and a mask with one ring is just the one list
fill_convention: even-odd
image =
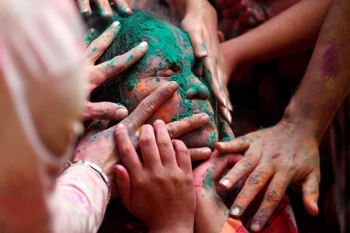
[(183, 143), (180, 140), (173, 139), (172, 145), (174, 146), (174, 150), (176, 153), (177, 165), (179, 166), (179, 168), (181, 168), (181, 170), (189, 174), (190, 172), (192, 172), (192, 164), (191, 157), (185, 143)]

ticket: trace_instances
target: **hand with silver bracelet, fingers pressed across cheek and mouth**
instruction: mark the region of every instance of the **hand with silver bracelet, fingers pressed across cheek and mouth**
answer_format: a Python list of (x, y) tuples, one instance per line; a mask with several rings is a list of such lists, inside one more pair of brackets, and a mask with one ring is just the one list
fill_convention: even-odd
[[(150, 94), (141, 101), (138, 107), (123, 121), (129, 130), (132, 143), (135, 148), (139, 148), (139, 132), (144, 122), (177, 90), (176, 82), (169, 82)], [(171, 138), (176, 138), (181, 134), (187, 133), (193, 129), (204, 126), (209, 122), (209, 116), (205, 113), (195, 114), (191, 117), (184, 118), (167, 124), (167, 129)], [(94, 120), (86, 129), (85, 134), (79, 139), (76, 147), (73, 161), (86, 160), (97, 164), (108, 176), (111, 182), (112, 195), (117, 197), (116, 177), (113, 171), (114, 165), (120, 163), (116, 140), (114, 139), (113, 126), (106, 129), (109, 121)], [(106, 129), (106, 130), (104, 130)], [(204, 159), (211, 155), (209, 148), (197, 148), (190, 150), (195, 160)]]

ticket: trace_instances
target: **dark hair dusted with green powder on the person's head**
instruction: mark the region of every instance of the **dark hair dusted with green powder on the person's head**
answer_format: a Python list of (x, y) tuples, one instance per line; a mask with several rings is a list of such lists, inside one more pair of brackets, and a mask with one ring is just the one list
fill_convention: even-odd
[[(122, 55), (134, 48), (142, 41), (149, 42), (150, 38), (145, 36), (145, 25), (147, 25), (149, 22), (152, 22), (150, 25), (154, 25), (155, 21), (167, 22), (175, 26), (178, 26), (179, 24), (177, 17), (172, 17), (170, 20), (169, 16), (174, 15), (172, 12), (169, 12), (165, 8), (161, 7), (152, 9), (152, 13), (140, 11), (139, 9), (133, 9), (133, 13), (128, 17), (121, 16), (115, 9), (112, 9), (112, 11), (113, 16), (111, 19), (106, 20), (99, 15), (97, 7), (92, 6), (93, 13), (88, 19), (86, 19), (87, 27), (94, 28), (96, 30), (95, 38), (100, 36), (112, 24), (112, 22), (119, 21), (121, 23), (121, 28), (116, 36), (116, 39), (97, 60), (96, 64)], [(116, 102), (120, 98), (121, 92), (118, 88), (118, 82), (120, 82), (121, 77), (126, 77), (130, 72), (133, 72), (140, 65), (142, 65), (140, 64), (140, 61), (137, 61), (127, 70), (112, 78), (107, 79), (99, 88), (97, 88), (92, 93), (92, 101), (103, 100)], [(143, 65), (145, 66), (146, 64)]]

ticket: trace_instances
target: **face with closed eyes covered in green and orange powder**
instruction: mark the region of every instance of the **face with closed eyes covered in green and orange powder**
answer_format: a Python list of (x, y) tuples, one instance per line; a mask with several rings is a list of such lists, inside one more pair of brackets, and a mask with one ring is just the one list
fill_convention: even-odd
[[(139, 62), (117, 77), (120, 80), (117, 85), (119, 94), (112, 101), (124, 104), (131, 113), (159, 86), (174, 80), (179, 84), (179, 90), (145, 123), (152, 124), (156, 119), (169, 123), (196, 113), (207, 113), (210, 117), (208, 125), (178, 139), (191, 148), (213, 148), (218, 139), (216, 101), (203, 83), (200, 69), (196, 69), (200, 66), (195, 64), (188, 34), (172, 24), (160, 22), (142, 12), (133, 13), (129, 17), (146, 18), (129, 30), (133, 30), (133, 45), (147, 41), (148, 50)], [(121, 23), (123, 24), (123, 21)], [(124, 23), (127, 25), (127, 22)], [(124, 25), (122, 30), (123, 27)]]

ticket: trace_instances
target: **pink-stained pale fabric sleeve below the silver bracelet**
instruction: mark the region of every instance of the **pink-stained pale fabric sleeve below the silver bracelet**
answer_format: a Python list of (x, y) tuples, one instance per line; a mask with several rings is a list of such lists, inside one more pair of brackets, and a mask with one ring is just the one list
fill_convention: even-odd
[(107, 185), (84, 164), (73, 164), (57, 179), (49, 201), (54, 232), (97, 232), (107, 206)]

